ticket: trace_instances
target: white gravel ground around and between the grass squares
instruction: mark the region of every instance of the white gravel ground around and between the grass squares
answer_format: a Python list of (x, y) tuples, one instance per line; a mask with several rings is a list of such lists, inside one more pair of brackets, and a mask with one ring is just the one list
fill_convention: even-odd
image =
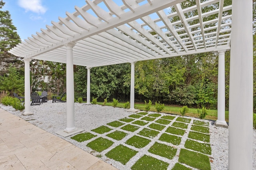
[[(170, 125), (166, 126), (160, 134), (158, 134), (158, 137), (155, 137), (154, 139), (150, 139), (151, 142), (142, 149), (137, 149), (135, 147), (132, 147), (129, 145), (131, 149), (139, 151), (136, 156), (132, 157), (126, 165), (121, 164), (120, 162), (117, 162), (115, 160), (107, 158), (104, 154), (106, 154), (109, 150), (113, 149), (114, 147), (120, 145), (126, 145), (124, 144), (124, 141), (129, 139), (130, 137), (134, 136), (138, 133), (141, 129), (144, 127), (147, 127), (149, 124), (142, 126), (139, 130), (129, 133), (124, 139), (121, 141), (115, 141), (115, 143), (108, 149), (102, 151), (102, 152), (94, 152), (89, 147), (86, 147), (86, 144), (94, 139), (90, 139), (88, 141), (84, 141), (82, 143), (79, 143), (73, 139), (70, 139), (70, 137), (62, 137), (60, 135), (57, 135), (55, 132), (65, 129), (66, 128), (66, 103), (52, 103), (52, 101), (48, 101), (40, 106), (31, 106), (31, 111), (34, 113), (34, 115), (22, 115), (23, 112), (16, 111), (10, 106), (4, 106), (0, 104), (0, 107), (18, 117), (21, 117), (22, 119), (36, 125), (37, 127), (44, 129), (45, 131), (48, 131), (66, 141), (69, 141), (70, 143), (76, 145), (77, 147), (85, 150), (86, 152), (89, 152), (93, 154), (94, 156), (101, 154), (102, 159), (105, 162), (108, 162), (109, 164), (112, 164), (116, 168), (120, 170), (129, 170), (130, 167), (140, 158), (142, 155), (147, 154), (152, 157), (158, 158), (160, 160), (163, 160), (165, 162), (168, 162), (170, 165), (168, 166), (168, 169), (172, 169), (174, 164), (178, 162), (178, 156), (180, 149), (184, 148), (184, 143), (188, 137), (188, 129), (190, 129), (192, 122), (194, 119), (193, 117), (189, 117), (192, 119), (190, 123), (188, 123), (188, 128), (186, 130), (186, 133), (182, 137), (182, 141), (180, 145), (176, 146), (178, 149), (176, 156), (172, 160), (169, 160), (167, 158), (156, 156), (154, 154), (149, 153), (147, 150), (157, 141), (157, 139), (160, 137), (160, 135), (169, 127), (172, 125), (174, 121), (170, 123)], [(150, 112), (154, 113), (154, 112)], [(84, 132), (90, 132), (93, 134), (98, 135), (98, 137), (104, 137), (109, 140), (114, 140), (112, 138), (106, 137), (104, 134), (99, 135), (97, 133), (94, 133), (90, 130), (95, 129), (97, 127), (100, 127), (102, 125), (106, 125), (106, 123), (128, 117), (129, 115), (134, 114), (132, 112), (127, 111), (127, 109), (124, 108), (114, 108), (111, 106), (100, 106), (100, 105), (86, 105), (86, 104), (79, 104), (75, 103), (75, 125), (76, 127), (84, 129)], [(165, 113), (161, 113), (162, 115), (166, 115)], [(176, 118), (179, 116), (176, 116)], [(174, 118), (174, 120), (176, 119)], [(158, 119), (158, 118), (157, 118)], [(204, 120), (206, 121), (206, 120)], [(210, 123), (210, 144), (212, 148), (212, 154), (209, 155), (211, 157), (211, 160), (213, 161), (211, 163), (212, 170), (228, 170), (228, 129), (223, 127), (215, 127), (214, 123), (209, 121)], [(106, 125), (108, 126), (108, 125)], [(115, 131), (117, 128), (111, 127)], [(118, 128), (118, 130), (120, 130)], [(110, 131), (110, 132), (112, 132)], [(127, 133), (127, 131), (126, 131)], [(256, 170), (256, 130), (253, 131), (253, 169)], [(166, 145), (170, 145), (169, 143), (162, 142)], [(128, 145), (126, 145), (128, 146)], [(191, 168), (191, 167), (190, 167)], [(196, 170), (195, 168), (192, 168), (193, 170)]]

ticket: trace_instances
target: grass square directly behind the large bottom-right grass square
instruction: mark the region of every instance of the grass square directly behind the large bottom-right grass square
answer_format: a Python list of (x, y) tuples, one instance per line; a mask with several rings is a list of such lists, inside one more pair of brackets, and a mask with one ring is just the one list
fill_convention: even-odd
[(188, 139), (185, 142), (185, 148), (195, 150), (204, 154), (212, 154), (211, 145), (208, 143), (200, 143), (200, 142)]

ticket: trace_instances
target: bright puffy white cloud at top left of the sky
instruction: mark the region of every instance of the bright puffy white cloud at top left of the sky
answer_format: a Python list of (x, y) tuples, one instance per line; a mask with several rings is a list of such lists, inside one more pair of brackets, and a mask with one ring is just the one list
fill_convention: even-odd
[(20, 7), (24, 8), (26, 12), (32, 11), (38, 14), (44, 14), (46, 8), (42, 6), (42, 0), (18, 0)]

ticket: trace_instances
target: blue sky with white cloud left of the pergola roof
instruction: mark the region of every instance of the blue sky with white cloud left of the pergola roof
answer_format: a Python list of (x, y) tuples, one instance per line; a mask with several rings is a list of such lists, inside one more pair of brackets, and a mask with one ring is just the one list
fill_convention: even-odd
[(82, 7), (85, 0), (3, 0), (2, 10), (8, 10), (12, 22), (17, 28), (22, 41), (32, 34), (46, 29), (45, 25), (52, 25), (51, 21), (58, 22), (58, 17), (65, 18), (66, 11), (75, 12), (74, 6)]

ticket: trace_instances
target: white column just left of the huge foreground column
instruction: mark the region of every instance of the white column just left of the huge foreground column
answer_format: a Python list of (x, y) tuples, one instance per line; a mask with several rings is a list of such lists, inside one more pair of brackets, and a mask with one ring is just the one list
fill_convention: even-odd
[(225, 121), (225, 51), (218, 51), (218, 119), (216, 126), (228, 127)]

